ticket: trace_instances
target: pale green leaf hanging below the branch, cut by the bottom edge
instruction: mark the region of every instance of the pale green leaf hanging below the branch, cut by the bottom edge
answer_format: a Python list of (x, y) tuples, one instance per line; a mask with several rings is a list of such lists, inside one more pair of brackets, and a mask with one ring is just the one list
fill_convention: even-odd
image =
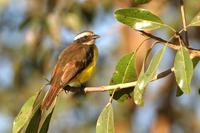
[(114, 133), (114, 118), (112, 104), (108, 103), (101, 112), (97, 124), (96, 133)]

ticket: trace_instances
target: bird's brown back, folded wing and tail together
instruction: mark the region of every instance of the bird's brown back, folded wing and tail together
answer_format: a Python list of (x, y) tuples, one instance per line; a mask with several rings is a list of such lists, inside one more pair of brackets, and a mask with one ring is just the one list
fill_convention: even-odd
[(73, 44), (64, 49), (53, 70), (51, 88), (44, 99), (42, 108), (48, 109), (59, 90), (86, 68), (93, 58), (93, 46)]

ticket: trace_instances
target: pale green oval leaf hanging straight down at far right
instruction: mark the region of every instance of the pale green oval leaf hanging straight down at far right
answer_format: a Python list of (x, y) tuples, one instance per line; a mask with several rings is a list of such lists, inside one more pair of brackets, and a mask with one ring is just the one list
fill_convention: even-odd
[(193, 75), (193, 64), (187, 48), (181, 47), (175, 56), (174, 73), (176, 82), (184, 93), (190, 92), (190, 83)]

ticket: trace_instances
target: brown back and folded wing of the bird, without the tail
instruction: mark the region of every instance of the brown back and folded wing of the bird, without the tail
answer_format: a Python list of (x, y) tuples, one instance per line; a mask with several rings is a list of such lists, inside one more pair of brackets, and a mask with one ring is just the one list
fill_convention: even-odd
[(52, 73), (52, 84), (57, 78), (66, 85), (80, 71), (86, 68), (93, 58), (93, 46), (72, 44), (64, 49)]

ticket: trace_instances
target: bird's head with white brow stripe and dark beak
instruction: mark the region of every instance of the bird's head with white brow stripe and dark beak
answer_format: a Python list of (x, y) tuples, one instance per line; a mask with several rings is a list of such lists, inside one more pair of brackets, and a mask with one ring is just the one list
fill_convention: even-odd
[(95, 44), (95, 40), (99, 37), (99, 35), (94, 34), (92, 31), (84, 31), (75, 36), (74, 42), (84, 45), (93, 45)]

